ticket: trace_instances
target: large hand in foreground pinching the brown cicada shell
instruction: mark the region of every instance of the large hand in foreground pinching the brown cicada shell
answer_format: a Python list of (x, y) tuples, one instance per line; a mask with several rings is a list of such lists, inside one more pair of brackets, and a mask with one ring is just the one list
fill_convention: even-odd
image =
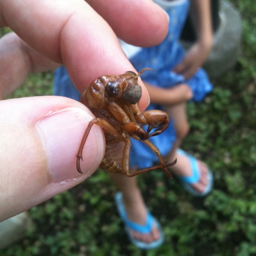
[[(166, 36), (166, 15), (151, 1), (87, 2), (0, 0), (0, 27), (10, 26), (15, 32), (0, 39), (3, 97), (28, 73), (59, 64), (67, 67), (82, 92), (103, 74), (135, 71), (115, 33), (139, 46), (158, 44)], [(140, 105), (145, 109), (148, 95), (140, 84)], [(102, 131), (96, 125), (84, 148), (88, 156), (81, 162), (84, 174), (75, 165), (82, 135), (92, 118), (84, 105), (64, 97), (0, 102), (0, 220), (44, 202), (95, 171), (105, 150)]]

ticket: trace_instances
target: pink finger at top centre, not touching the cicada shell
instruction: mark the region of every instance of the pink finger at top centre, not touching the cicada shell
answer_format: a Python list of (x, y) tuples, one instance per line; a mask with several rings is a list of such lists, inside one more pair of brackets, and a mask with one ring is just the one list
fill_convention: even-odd
[(89, 3), (128, 44), (150, 47), (160, 44), (167, 35), (169, 16), (153, 1), (113, 0), (111, 5), (108, 1)]

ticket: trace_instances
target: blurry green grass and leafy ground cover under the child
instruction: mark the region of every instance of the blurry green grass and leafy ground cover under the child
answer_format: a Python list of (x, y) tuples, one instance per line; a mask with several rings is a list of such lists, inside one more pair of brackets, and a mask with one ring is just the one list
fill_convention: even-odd
[[(212, 193), (197, 199), (162, 173), (140, 175), (146, 204), (166, 235), (163, 246), (142, 252), (125, 234), (113, 182), (97, 171), (29, 210), (33, 228), (1, 255), (256, 254), (256, 4), (232, 2), (243, 17), (241, 56), (213, 81), (215, 89), (205, 102), (189, 103), (191, 131), (182, 145), (211, 167)], [(51, 79), (51, 73), (32, 75), (12, 97), (50, 94)]]

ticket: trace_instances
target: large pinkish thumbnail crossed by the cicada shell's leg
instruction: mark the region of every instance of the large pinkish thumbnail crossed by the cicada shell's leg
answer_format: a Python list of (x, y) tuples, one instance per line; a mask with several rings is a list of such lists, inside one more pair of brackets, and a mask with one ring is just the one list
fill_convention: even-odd
[[(80, 108), (65, 108), (49, 113), (36, 123), (48, 160), (50, 182), (74, 179), (77, 172), (77, 151), (92, 115)], [(104, 155), (100, 127), (93, 125), (83, 151), (81, 169), (89, 177), (99, 166)]]

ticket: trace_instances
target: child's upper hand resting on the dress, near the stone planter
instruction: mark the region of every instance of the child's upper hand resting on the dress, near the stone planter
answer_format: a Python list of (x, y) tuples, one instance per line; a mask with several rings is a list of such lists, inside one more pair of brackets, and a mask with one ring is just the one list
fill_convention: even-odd
[(191, 78), (207, 59), (210, 49), (211, 45), (195, 43), (173, 71), (182, 74), (186, 79)]

